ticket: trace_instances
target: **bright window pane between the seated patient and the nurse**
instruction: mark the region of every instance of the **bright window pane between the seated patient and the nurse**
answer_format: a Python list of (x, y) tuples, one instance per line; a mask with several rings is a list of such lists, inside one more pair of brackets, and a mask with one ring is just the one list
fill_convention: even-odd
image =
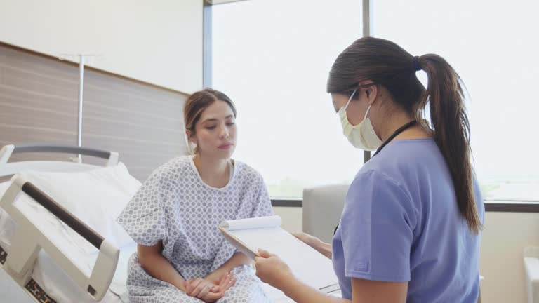
[(272, 197), (351, 182), (363, 163), (326, 93), (337, 55), (361, 37), (361, 1), (257, 0), (213, 6), (213, 88), (237, 105), (236, 159)]

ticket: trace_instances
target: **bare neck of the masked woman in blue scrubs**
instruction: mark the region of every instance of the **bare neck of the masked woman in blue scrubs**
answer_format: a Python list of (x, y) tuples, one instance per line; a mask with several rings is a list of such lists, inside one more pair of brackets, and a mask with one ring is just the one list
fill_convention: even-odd
[[(406, 123), (413, 121), (413, 117), (411, 117), (406, 112), (402, 112), (401, 110), (395, 110), (392, 111), (389, 116), (376, 120), (378, 120), (378, 123), (376, 123), (376, 125), (373, 125), (375, 133), (376, 135), (378, 135), (378, 137), (380, 137), (380, 140), (385, 141), (388, 137), (393, 135), (396, 130), (401, 128), (401, 126), (404, 126)], [(393, 140), (422, 139), (427, 137), (432, 137), (432, 134), (429, 132), (429, 130), (425, 130), (425, 128), (423, 128), (419, 124), (415, 124), (411, 128), (404, 130), (402, 133), (394, 137)]]

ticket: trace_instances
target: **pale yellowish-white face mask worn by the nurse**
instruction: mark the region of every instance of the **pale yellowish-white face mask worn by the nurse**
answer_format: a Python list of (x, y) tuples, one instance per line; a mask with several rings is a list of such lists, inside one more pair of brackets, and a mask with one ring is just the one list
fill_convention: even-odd
[(340, 116), (340, 123), (342, 125), (342, 133), (345, 134), (345, 137), (348, 138), (348, 141), (354, 147), (372, 151), (382, 145), (382, 140), (380, 140), (378, 135), (376, 135), (373, 124), (371, 123), (371, 119), (367, 118), (371, 105), (368, 106), (363, 121), (361, 121), (361, 123), (359, 123), (357, 126), (352, 126), (346, 116), (346, 108), (350, 104), (350, 100), (352, 100), (355, 93), (356, 90), (354, 90), (350, 96), (350, 99), (348, 99), (348, 102), (346, 102), (346, 105), (341, 107), (338, 112)]

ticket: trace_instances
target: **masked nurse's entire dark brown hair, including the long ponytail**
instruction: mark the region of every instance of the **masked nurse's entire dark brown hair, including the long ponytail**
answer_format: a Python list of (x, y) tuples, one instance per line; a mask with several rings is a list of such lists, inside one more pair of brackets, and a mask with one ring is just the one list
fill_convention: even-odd
[[(418, 69), (427, 74), (426, 90), (415, 76)], [(327, 91), (350, 94), (366, 80), (386, 88), (393, 101), (418, 121), (422, 121), (427, 103), (430, 105), (434, 141), (451, 173), (458, 209), (477, 234), (482, 226), (474, 198), (470, 123), (463, 83), (453, 67), (439, 55), (414, 58), (392, 41), (366, 37), (340, 53), (331, 67)]]

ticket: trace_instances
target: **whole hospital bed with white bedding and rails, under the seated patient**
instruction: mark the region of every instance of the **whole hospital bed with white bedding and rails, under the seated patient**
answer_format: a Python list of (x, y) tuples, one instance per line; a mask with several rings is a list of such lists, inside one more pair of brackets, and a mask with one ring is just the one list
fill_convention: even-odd
[[(105, 159), (105, 166), (81, 161), (8, 163), (13, 154), (26, 152), (93, 156)], [(86, 224), (94, 219), (87, 213), (117, 217), (140, 186), (118, 159), (115, 152), (81, 147), (0, 149), (0, 178), (13, 175), (0, 182), (0, 302), (128, 302), (127, 266), (136, 243), (110, 234), (115, 226)], [(116, 189), (121, 190), (112, 192)], [(84, 194), (74, 197), (76, 191)], [(114, 199), (102, 201), (108, 197)], [(265, 288), (274, 302), (293, 302), (279, 290)]]

